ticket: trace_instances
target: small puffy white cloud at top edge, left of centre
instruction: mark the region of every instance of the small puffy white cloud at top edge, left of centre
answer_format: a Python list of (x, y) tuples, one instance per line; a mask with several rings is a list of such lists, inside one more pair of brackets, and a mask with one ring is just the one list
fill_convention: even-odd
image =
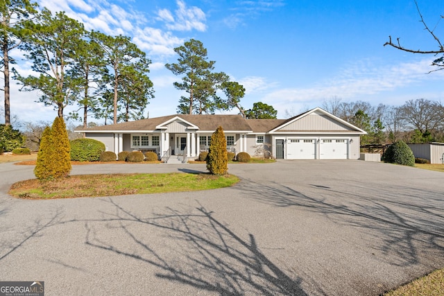
[(178, 0), (177, 5), (176, 17), (169, 10), (161, 9), (157, 11), (157, 19), (164, 21), (167, 28), (173, 31), (197, 30), (203, 32), (207, 30), (205, 12), (196, 6), (187, 8), (187, 5), (182, 0)]

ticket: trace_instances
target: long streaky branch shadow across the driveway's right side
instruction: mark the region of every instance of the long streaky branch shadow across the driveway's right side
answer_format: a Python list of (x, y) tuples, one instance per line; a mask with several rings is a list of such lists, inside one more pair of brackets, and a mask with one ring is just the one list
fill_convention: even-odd
[[(363, 229), (376, 235), (382, 244), (372, 245), (382, 251), (393, 265), (418, 263), (418, 254), (432, 258), (444, 252), (443, 193), (423, 191), (407, 186), (393, 189), (381, 184), (368, 186), (308, 184), (305, 194), (275, 182), (244, 180), (237, 184), (243, 194), (275, 207), (298, 207), (321, 214), (334, 223)], [(343, 188), (348, 188), (343, 191)], [(394, 193), (393, 193), (394, 192)], [(404, 192), (404, 195), (395, 193)], [(420, 247), (420, 250), (418, 250)], [(441, 255), (440, 255), (441, 254)]]

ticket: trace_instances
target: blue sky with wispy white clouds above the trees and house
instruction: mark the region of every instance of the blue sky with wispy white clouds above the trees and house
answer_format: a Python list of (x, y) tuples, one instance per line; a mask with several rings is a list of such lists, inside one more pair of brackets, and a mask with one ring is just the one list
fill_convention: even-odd
[[(433, 55), (383, 46), (388, 35), (402, 45), (434, 50), (413, 0), (38, 0), (64, 10), (85, 28), (130, 36), (151, 59), (148, 76), (155, 98), (150, 117), (176, 113), (180, 80), (164, 64), (176, 62), (173, 49), (194, 38), (203, 42), (216, 71), (244, 85), (246, 109), (262, 101), (298, 114), (332, 97), (402, 105), (416, 98), (441, 101), (444, 71), (433, 70)], [(444, 3), (418, 0), (425, 21), (444, 42)], [(27, 73), (22, 61), (17, 69)], [(14, 82), (12, 82), (14, 83)], [(56, 111), (35, 93), (12, 89), (11, 112), (21, 121), (52, 121)], [(1, 102), (3, 104), (3, 102)], [(66, 113), (69, 112), (69, 108)], [(237, 110), (225, 112), (236, 114)]]

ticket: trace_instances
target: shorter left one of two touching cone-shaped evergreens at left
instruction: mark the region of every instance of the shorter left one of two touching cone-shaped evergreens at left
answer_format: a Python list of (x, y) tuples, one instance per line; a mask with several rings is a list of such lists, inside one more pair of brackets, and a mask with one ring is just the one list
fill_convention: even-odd
[(40, 148), (37, 153), (37, 164), (34, 168), (34, 175), (39, 180), (51, 180), (55, 175), (55, 167), (52, 162), (53, 155), (53, 139), (51, 128), (47, 126), (40, 140)]

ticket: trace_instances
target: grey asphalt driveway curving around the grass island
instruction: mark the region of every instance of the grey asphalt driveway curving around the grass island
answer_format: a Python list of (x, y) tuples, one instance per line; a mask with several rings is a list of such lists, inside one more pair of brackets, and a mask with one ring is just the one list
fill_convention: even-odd
[[(205, 172), (98, 164), (72, 174)], [(0, 164), (0, 281), (45, 295), (379, 295), (444, 268), (444, 174), (361, 161), (230, 164), (228, 189), (11, 198)]]

